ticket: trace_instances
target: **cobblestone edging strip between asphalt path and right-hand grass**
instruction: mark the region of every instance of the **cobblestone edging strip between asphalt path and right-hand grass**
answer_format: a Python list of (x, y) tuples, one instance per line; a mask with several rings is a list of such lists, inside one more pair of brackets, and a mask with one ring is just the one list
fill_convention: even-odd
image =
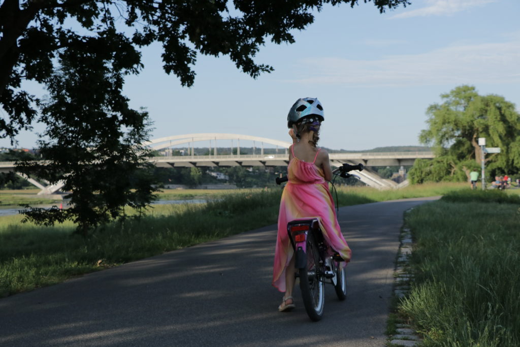
[[(412, 209), (408, 211), (411, 211)], [(400, 238), (401, 242), (399, 245), (399, 252), (397, 253), (396, 269), (394, 272), (395, 301), (406, 297), (410, 290), (410, 283), (413, 281), (413, 275), (411, 274), (410, 266), (408, 264), (413, 246), (410, 229), (403, 228)], [(406, 320), (402, 318), (393, 319), (393, 324), (389, 327), (387, 332), (389, 333), (389, 345), (391, 346), (416, 346), (422, 341), (419, 333), (415, 331), (411, 325), (406, 324)]]

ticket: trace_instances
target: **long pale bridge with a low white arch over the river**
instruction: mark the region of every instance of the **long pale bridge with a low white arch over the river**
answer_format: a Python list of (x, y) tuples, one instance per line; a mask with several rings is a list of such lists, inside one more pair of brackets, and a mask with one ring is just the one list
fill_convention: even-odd
[[(224, 155), (218, 153), (217, 140), (231, 140), (230, 153), (236, 154)], [(240, 141), (252, 142), (253, 153), (241, 154)], [(199, 156), (195, 154), (194, 143), (207, 142), (209, 146), (209, 155)], [(236, 144), (236, 145), (235, 145)], [(264, 153), (264, 145), (276, 146), (276, 151), (280, 149), (283, 153)], [(156, 166), (161, 168), (187, 168), (187, 167), (229, 167), (229, 166), (287, 166), (289, 163), (288, 148), (289, 142), (280, 140), (239, 134), (218, 134), (218, 133), (201, 133), (186, 134), (161, 137), (150, 140), (143, 145), (154, 149), (164, 150), (171, 149), (173, 146), (187, 145), (188, 151), (184, 156), (163, 156), (151, 157), (149, 160)], [(206, 147), (205, 145), (203, 147)], [(227, 147), (227, 146), (226, 146)], [(249, 146), (251, 147), (251, 146)], [(213, 153), (212, 153), (213, 152)], [(170, 151), (170, 154), (172, 151)], [(378, 174), (370, 169), (371, 166), (400, 166), (413, 165), (415, 159), (432, 159), (432, 152), (358, 152), (358, 153), (329, 153), (332, 166), (341, 166), (343, 163), (358, 164), (362, 163), (366, 169), (359, 172), (361, 181), (369, 186), (378, 189), (399, 188), (408, 184), (408, 181), (402, 182), (400, 185), (389, 179), (381, 178)], [(0, 162), (0, 172), (15, 171), (15, 162)], [(54, 194), (63, 187), (63, 182), (51, 185), (48, 182), (38, 182), (31, 177), (27, 177), (18, 173), (24, 179), (27, 179), (41, 191), (38, 194)]]

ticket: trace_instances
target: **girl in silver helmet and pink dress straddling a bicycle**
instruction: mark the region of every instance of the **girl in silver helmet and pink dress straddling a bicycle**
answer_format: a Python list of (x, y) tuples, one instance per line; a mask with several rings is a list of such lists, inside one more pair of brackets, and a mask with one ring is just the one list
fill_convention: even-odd
[[(287, 223), (318, 217), (323, 236), (341, 258), (350, 261), (351, 251), (341, 234), (328, 181), (332, 179), (329, 153), (317, 147), (323, 107), (317, 98), (298, 99), (287, 116), (293, 145), (287, 168), (289, 182), (283, 189), (278, 214), (278, 237), (272, 285), (284, 292), (278, 311), (295, 307), (294, 250), (287, 234)], [(345, 266), (340, 262), (340, 266)]]

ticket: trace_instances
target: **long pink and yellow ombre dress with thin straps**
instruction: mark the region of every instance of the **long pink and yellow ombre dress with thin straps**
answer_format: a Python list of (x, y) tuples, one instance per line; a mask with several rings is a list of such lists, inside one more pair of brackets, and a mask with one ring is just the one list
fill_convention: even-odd
[[(294, 250), (287, 235), (287, 223), (296, 219), (319, 217), (323, 236), (329, 245), (341, 254), (347, 262), (350, 261), (350, 248), (341, 234), (337, 222), (334, 201), (325, 181), (323, 170), (314, 164), (294, 156), (288, 166), (289, 183), (283, 189), (278, 214), (278, 238), (276, 240), (275, 265), (272, 274), (272, 285), (285, 292), (285, 268), (292, 259)], [(345, 264), (345, 263), (341, 263)]]

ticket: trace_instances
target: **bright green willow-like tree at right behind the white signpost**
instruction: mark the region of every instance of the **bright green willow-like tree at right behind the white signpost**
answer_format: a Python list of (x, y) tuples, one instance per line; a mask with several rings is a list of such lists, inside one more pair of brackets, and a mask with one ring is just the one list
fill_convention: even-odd
[[(515, 105), (498, 95), (478, 95), (475, 87), (462, 85), (441, 95), (443, 104), (428, 107), (428, 128), (419, 136), (422, 144), (433, 145), (436, 158), (426, 170), (416, 161), (409, 172), (412, 181), (463, 181), (478, 168), (482, 152), (478, 138), (502, 152), (487, 155), (491, 176), (520, 169), (520, 114)], [(460, 173), (465, 173), (461, 175)]]

